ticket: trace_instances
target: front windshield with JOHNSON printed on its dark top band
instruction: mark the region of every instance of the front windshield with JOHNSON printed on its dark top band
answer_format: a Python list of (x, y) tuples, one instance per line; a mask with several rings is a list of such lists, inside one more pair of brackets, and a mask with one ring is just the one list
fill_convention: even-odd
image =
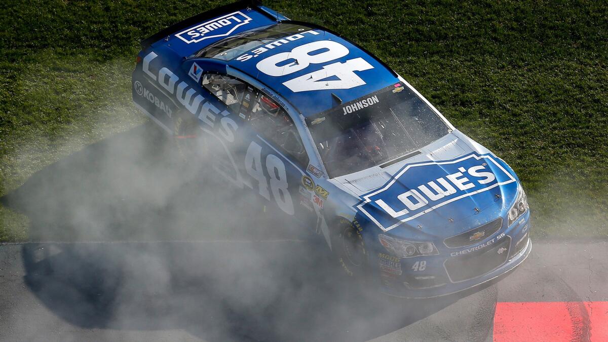
[(307, 117), (306, 124), (332, 178), (392, 161), (449, 133), (402, 83)]

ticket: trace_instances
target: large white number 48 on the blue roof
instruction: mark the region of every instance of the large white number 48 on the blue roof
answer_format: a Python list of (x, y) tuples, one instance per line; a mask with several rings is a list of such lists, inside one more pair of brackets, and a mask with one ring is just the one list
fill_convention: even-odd
[[(321, 51), (321, 52), (319, 52)], [(348, 47), (331, 40), (313, 41), (294, 47), (290, 52), (281, 52), (266, 57), (257, 63), (257, 68), (271, 76), (285, 76), (308, 68), (309, 65), (326, 63), (345, 57)], [(295, 60), (295, 61), (294, 61)], [(291, 63), (286, 63), (292, 61)], [(323, 89), (351, 89), (365, 85), (365, 81), (355, 71), (373, 69), (361, 57), (325, 65), (321, 69), (283, 82), (293, 92)], [(337, 79), (337, 80), (336, 80)]]

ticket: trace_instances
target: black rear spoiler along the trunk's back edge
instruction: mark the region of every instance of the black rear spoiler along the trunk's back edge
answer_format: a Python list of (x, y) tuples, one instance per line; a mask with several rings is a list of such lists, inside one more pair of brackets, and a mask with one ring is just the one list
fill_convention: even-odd
[(227, 5), (223, 5), (221, 7), (217, 7), (215, 9), (212, 10), (208, 10), (207, 12), (203, 12), (201, 14), (192, 16), (188, 19), (185, 19), (184, 21), (180, 21), (177, 24), (173, 24), (169, 27), (167, 27), (164, 30), (161, 30), (158, 33), (154, 33), (154, 35), (151, 35), (148, 38), (145, 38), (144, 40), (142, 40), (140, 42), (142, 49), (145, 50), (148, 47), (150, 47), (151, 44), (153, 44), (156, 41), (161, 40), (162, 38), (168, 37), (171, 34), (181, 31), (183, 29), (185, 29), (186, 27), (189, 26), (193, 26), (195, 24), (200, 23), (201, 21), (205, 21), (207, 19), (213, 19), (216, 18), (217, 16), (226, 14), (226, 13), (230, 13), (230, 12), (234, 12), (237, 10), (242, 10), (245, 8), (250, 8), (250, 9), (254, 9), (257, 10), (257, 12), (260, 12), (261, 14), (267, 16), (268, 18), (272, 19), (272, 20), (277, 20), (277, 18), (273, 15), (271, 15), (271, 13), (266, 12), (266, 10), (261, 9), (261, 2), (258, 0), (240, 0), (237, 2), (233, 2), (232, 4), (227, 4)]

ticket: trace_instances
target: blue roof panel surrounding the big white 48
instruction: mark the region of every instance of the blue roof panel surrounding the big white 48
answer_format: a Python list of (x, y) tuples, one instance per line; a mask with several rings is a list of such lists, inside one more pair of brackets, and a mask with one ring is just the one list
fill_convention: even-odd
[[(370, 54), (370, 52), (366, 51), (364, 48), (344, 37), (340, 37), (339, 34), (332, 32), (331, 30), (326, 29), (325, 27), (299, 21), (282, 21), (281, 23), (301, 24), (302, 26), (306, 26), (311, 30), (314, 30), (314, 32), (317, 34), (305, 34), (303, 35), (303, 38), (297, 41), (297, 44), (282, 44), (280, 46), (273, 46), (271, 50), (264, 52), (264, 54), (254, 55), (254, 57), (249, 58), (248, 60), (238, 60), (237, 57), (226, 61), (226, 63), (230, 67), (238, 69), (239, 71), (250, 75), (250, 77), (257, 79), (259, 82), (264, 83), (264, 85), (267, 85), (273, 91), (277, 92), (277, 94), (294, 105), (304, 117), (313, 116), (314, 114), (322, 111), (330, 110), (331, 108), (340, 106), (341, 103), (347, 103), (351, 100), (359, 99), (367, 94), (399, 82), (398, 76), (394, 71), (392, 71), (392, 69), (389, 68), (389, 66), (385, 65), (385, 63), (376, 58), (374, 55)], [(263, 29), (263, 27), (260, 29)], [(291, 52), (294, 47), (302, 46), (303, 44), (312, 43), (314, 41), (335, 41), (347, 47), (348, 54), (344, 57), (326, 61), (325, 63), (311, 63), (308, 67), (297, 72), (292, 72), (288, 75), (273, 76), (265, 74), (258, 69), (258, 63), (264, 58), (268, 58), (269, 56), (277, 55), (282, 52)], [(350, 89), (321, 89), (297, 92), (292, 91), (292, 89), (284, 85), (286, 81), (309, 74), (310, 72), (323, 69), (331, 70), (331, 68), (323, 68), (325, 66), (333, 65), (334, 63), (338, 62), (346, 63), (348, 60), (353, 60), (356, 58), (363, 58), (373, 67), (363, 71), (355, 71), (355, 74), (365, 82), (364, 85), (353, 86), (353, 88)], [(302, 61), (302, 63), (306, 62)], [(337, 77), (331, 76), (331, 72), (329, 75), (330, 77), (320, 79), (319, 82), (323, 82), (325, 80), (337, 80)]]

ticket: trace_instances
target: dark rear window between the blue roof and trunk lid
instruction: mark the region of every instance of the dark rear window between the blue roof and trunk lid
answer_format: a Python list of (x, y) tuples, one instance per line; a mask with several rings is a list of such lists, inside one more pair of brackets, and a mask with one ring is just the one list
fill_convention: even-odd
[[(289, 37), (295, 33), (309, 30), (309, 27), (297, 24), (274, 24), (264, 29), (247, 31), (218, 41), (202, 49), (196, 57), (216, 58), (220, 60), (232, 60), (263, 44), (272, 43), (275, 40)], [(285, 42), (286, 43), (286, 42)], [(281, 43), (277, 44), (279, 46)]]

